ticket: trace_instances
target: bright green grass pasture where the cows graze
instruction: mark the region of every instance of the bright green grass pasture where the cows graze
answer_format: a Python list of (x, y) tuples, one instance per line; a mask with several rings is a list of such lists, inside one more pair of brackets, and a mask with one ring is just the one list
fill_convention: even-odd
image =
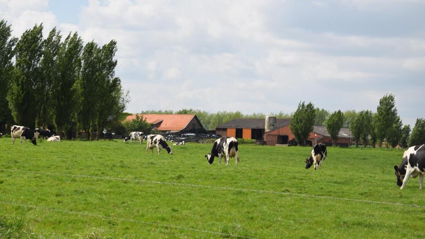
[(309, 147), (240, 145), (227, 167), (207, 164), (211, 147), (1, 138), (0, 238), (424, 237), (425, 207), (408, 205), (425, 191), (395, 183), (403, 150), (329, 147), (314, 171)]

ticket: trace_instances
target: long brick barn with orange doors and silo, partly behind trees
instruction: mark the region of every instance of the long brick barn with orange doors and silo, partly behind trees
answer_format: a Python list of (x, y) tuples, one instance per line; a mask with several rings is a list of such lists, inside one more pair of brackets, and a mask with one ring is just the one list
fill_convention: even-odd
[[(235, 119), (218, 125), (215, 131), (223, 137), (264, 140), (269, 146), (285, 146), (291, 144), (295, 139), (289, 127), (290, 124), (290, 118)], [(307, 143), (313, 145), (319, 142), (332, 145), (332, 138), (326, 130), (326, 126), (314, 126), (313, 131), (307, 139)], [(350, 129), (341, 128), (336, 145), (348, 146), (353, 142)]]

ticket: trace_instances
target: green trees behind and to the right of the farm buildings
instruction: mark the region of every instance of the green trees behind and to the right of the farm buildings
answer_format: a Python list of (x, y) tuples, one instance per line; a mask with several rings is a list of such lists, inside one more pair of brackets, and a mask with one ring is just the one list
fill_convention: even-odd
[[(151, 110), (142, 111), (139, 114), (195, 114), (203, 126), (210, 130), (214, 130), (222, 123), (238, 118), (266, 118), (263, 113), (243, 114), (240, 111), (210, 113), (194, 109)], [(425, 144), (425, 120), (417, 119), (413, 130), (411, 130), (410, 125), (403, 125), (395, 107), (395, 96), (393, 94), (386, 94), (379, 100), (375, 113), (370, 110), (360, 112), (338, 110), (331, 113), (325, 109), (315, 108), (311, 102), (307, 104), (300, 102), (297, 111), (293, 113), (270, 114), (276, 116), (276, 118), (292, 118), (290, 128), (297, 142), (301, 142), (300, 145), (305, 143), (315, 125), (326, 126), (334, 144), (341, 128), (350, 129), (350, 136), (354, 139), (355, 147), (358, 147), (359, 142), (362, 142), (362, 147), (367, 145), (382, 147), (383, 143), (386, 142), (386, 147), (391, 146), (393, 148), (397, 145), (406, 148), (408, 145)], [(126, 113), (126, 115), (130, 114)], [(150, 132), (151, 129), (143, 117), (124, 121), (123, 124), (128, 132)]]

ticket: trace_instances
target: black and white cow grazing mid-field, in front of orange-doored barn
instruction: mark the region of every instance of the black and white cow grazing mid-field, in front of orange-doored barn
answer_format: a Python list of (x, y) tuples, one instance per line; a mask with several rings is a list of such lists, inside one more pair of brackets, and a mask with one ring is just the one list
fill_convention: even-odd
[(214, 145), (212, 145), (212, 149), (211, 152), (207, 155), (205, 155), (205, 157), (208, 160), (209, 164), (212, 164), (212, 162), (214, 161), (214, 157), (218, 157), (218, 165), (221, 164), (221, 157), (222, 156), (226, 157), (226, 166), (229, 164), (229, 159), (232, 158), (236, 158), (236, 165), (238, 165), (239, 162), (239, 149), (238, 149), (238, 140), (233, 138), (233, 137), (229, 137), (229, 138), (220, 138), (217, 139), (214, 142)]

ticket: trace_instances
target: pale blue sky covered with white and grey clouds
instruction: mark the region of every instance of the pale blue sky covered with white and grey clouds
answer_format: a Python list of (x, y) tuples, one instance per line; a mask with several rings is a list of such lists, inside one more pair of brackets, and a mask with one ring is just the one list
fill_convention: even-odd
[(425, 118), (425, 0), (0, 0), (15, 36), (43, 23), (118, 41), (128, 112), (376, 111)]

